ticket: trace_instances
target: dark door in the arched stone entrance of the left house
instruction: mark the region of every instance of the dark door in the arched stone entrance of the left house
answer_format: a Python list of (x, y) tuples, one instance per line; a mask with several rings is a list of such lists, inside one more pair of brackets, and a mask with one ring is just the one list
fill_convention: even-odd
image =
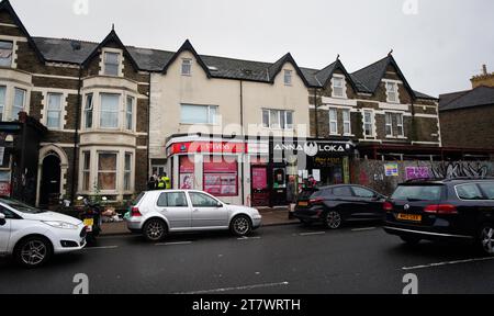
[(57, 205), (60, 199), (60, 158), (55, 155), (46, 156), (42, 172), (40, 206)]

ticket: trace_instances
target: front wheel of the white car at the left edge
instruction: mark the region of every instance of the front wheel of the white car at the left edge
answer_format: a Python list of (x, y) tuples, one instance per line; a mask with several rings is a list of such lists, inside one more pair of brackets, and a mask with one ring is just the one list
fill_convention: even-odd
[(23, 267), (37, 268), (49, 260), (52, 252), (52, 244), (48, 239), (34, 236), (21, 240), (15, 246), (13, 257)]

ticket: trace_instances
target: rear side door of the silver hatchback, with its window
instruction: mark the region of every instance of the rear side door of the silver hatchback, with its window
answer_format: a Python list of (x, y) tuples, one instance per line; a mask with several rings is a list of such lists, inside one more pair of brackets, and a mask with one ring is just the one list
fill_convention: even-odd
[(192, 215), (186, 192), (161, 193), (156, 203), (157, 211), (167, 218), (169, 229), (190, 229)]

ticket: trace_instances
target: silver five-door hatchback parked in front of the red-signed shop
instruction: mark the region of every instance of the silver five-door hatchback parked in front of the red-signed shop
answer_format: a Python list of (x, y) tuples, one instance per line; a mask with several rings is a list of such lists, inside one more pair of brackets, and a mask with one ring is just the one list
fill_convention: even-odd
[(150, 241), (178, 232), (229, 229), (236, 236), (246, 236), (259, 228), (262, 219), (255, 208), (228, 205), (194, 190), (143, 192), (134, 203), (127, 228)]

